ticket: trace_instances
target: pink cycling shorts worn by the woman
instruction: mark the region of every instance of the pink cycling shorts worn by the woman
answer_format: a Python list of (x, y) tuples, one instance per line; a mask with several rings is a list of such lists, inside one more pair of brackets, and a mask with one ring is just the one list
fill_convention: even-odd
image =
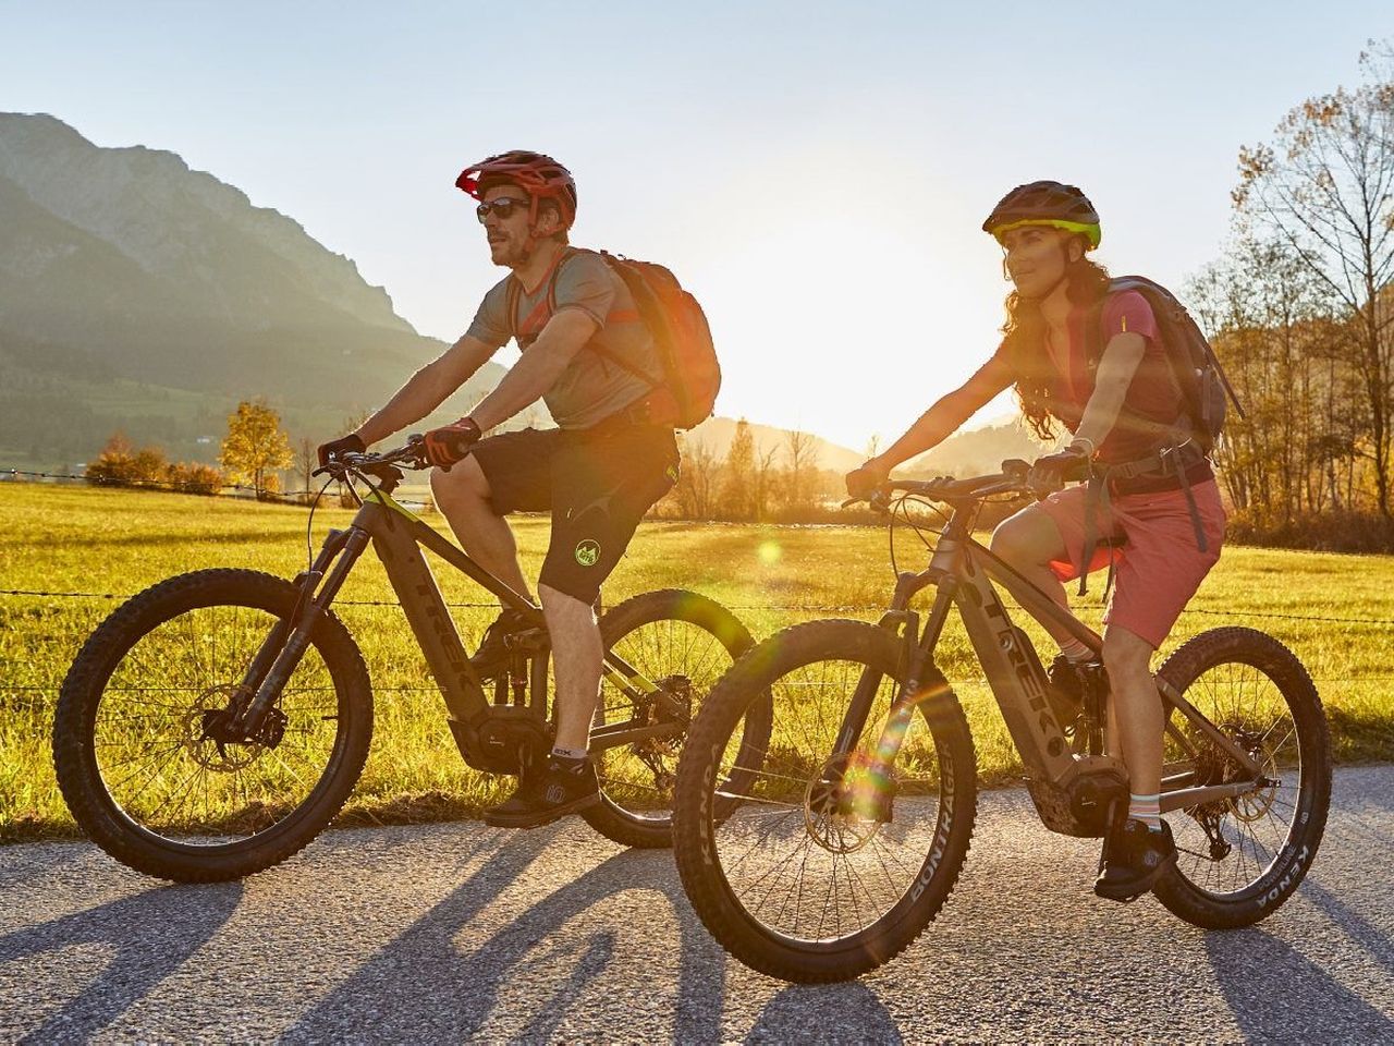
[[(1220, 559), (1225, 524), (1220, 488), (1214, 480), (1207, 480), (1190, 492), (1206, 533), (1204, 552), (1196, 543), (1185, 491), (1117, 494), (1111, 513), (1103, 505), (1094, 509), (1097, 536), (1126, 538), (1122, 548), (1097, 547), (1089, 565), (1090, 570), (1107, 568), (1110, 554), (1114, 556), (1117, 573), (1104, 623), (1128, 629), (1153, 649), (1165, 642), (1181, 611)], [(1086, 488), (1078, 485), (1057, 491), (1034, 506), (1055, 520), (1065, 540), (1069, 562), (1051, 563), (1062, 582), (1079, 577), (1085, 554), (1085, 499)]]

